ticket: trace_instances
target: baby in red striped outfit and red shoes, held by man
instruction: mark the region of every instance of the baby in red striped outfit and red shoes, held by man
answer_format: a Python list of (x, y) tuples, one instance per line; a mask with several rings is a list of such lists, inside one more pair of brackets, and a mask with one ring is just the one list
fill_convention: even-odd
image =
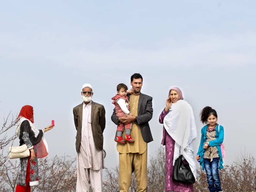
[[(112, 103), (115, 105), (116, 109), (116, 116), (122, 117), (125, 114), (133, 115), (129, 111), (129, 99), (127, 97), (127, 90), (128, 87), (124, 83), (120, 83), (117, 85), (117, 94), (112, 97), (112, 100), (114, 100)], [(122, 137), (123, 132), (125, 129), (125, 136)], [(114, 139), (116, 142), (125, 144), (125, 141), (134, 142), (134, 139), (131, 137), (131, 129), (132, 129), (132, 123), (124, 124), (120, 123), (117, 126), (116, 131), (116, 138)]]

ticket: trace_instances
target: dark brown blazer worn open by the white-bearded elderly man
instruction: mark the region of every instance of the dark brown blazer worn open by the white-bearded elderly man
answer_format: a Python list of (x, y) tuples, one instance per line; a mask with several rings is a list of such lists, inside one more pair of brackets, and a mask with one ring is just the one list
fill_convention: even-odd
[[(74, 107), (74, 122), (76, 127), (76, 152), (78, 153), (80, 142), (81, 142), (81, 134), (82, 134), (82, 120), (83, 120), (83, 103)], [(95, 143), (95, 147), (97, 150), (103, 150), (103, 131), (105, 129), (105, 109), (104, 106), (91, 102), (91, 129), (93, 132), (93, 140)]]

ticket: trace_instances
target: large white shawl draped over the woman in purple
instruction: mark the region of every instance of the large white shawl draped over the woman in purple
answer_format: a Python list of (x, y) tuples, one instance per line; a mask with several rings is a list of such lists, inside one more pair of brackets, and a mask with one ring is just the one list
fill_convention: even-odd
[(169, 113), (163, 119), (163, 125), (167, 133), (175, 140), (173, 165), (175, 160), (183, 155), (196, 178), (196, 163), (192, 146), (192, 141), (196, 138), (196, 123), (192, 107), (184, 100), (172, 103)]

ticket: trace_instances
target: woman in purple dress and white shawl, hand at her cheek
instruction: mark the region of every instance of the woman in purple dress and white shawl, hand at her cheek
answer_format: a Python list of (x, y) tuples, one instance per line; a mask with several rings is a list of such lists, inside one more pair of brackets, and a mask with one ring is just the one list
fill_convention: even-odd
[(166, 159), (166, 192), (193, 192), (193, 184), (185, 184), (172, 180), (173, 165), (182, 154), (184, 163), (188, 163), (196, 178), (196, 163), (193, 157), (192, 141), (196, 138), (196, 124), (193, 110), (188, 102), (183, 100), (178, 87), (169, 91), (165, 109), (159, 116), (159, 123), (163, 124), (163, 139)]

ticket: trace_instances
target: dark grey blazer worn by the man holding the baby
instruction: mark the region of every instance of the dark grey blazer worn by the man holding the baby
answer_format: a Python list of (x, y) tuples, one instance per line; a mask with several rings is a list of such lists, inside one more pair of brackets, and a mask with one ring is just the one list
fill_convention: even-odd
[[(130, 94), (127, 94), (128, 98), (130, 98)], [(144, 142), (149, 143), (153, 141), (153, 137), (150, 131), (150, 127), (148, 121), (151, 120), (153, 116), (153, 108), (152, 108), (152, 97), (140, 93), (139, 102), (138, 102), (138, 116), (134, 121), (136, 124), (140, 126), (140, 131), (142, 134), (142, 138)], [(116, 116), (116, 110), (111, 116), (111, 120), (117, 125), (118, 117)]]

